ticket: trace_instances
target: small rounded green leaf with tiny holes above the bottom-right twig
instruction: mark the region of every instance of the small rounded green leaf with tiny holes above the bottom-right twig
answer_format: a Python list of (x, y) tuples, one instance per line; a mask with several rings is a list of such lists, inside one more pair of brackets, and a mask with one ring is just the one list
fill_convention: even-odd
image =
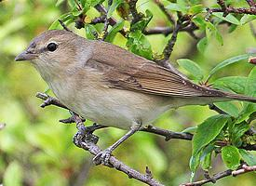
[(240, 153), (235, 146), (222, 148), (222, 161), (228, 168), (235, 170), (240, 165), (240, 159)]

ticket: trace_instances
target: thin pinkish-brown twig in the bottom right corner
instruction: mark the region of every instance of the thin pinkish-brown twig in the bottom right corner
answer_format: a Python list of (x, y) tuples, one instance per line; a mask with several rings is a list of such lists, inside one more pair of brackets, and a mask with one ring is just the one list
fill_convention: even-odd
[(199, 180), (199, 181), (195, 181), (195, 182), (192, 182), (192, 183), (183, 183), (181, 186), (199, 186), (199, 185), (204, 185), (208, 182), (216, 182), (216, 180), (218, 179), (222, 179), (224, 177), (228, 177), (228, 176), (233, 176), (233, 177), (236, 177), (237, 175), (241, 175), (241, 174), (244, 174), (244, 173), (247, 173), (247, 172), (252, 172), (252, 171), (255, 171), (256, 170), (256, 166), (246, 166), (246, 165), (243, 165), (242, 168), (240, 169), (237, 169), (237, 170), (234, 170), (232, 171), (231, 169), (228, 169), (228, 170), (225, 170), (223, 172), (220, 172), (220, 173), (217, 173), (215, 175), (213, 175), (212, 178), (209, 178), (209, 179), (203, 179), (203, 180)]

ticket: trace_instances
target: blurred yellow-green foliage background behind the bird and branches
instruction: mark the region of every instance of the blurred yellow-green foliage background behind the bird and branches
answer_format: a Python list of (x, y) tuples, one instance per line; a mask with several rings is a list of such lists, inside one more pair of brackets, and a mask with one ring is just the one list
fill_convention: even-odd
[[(45, 91), (47, 84), (28, 62), (15, 62), (14, 58), (38, 33), (46, 31), (54, 20), (67, 11), (63, 3), (56, 1), (7, 0), (0, 3), (0, 123), (7, 126), (0, 131), (0, 183), (5, 186), (18, 185), (141, 185), (135, 179), (105, 166), (93, 166), (92, 156), (74, 146), (74, 125), (62, 125), (59, 119), (69, 113), (55, 107), (42, 109), (41, 100), (34, 97), (37, 91)], [(165, 26), (166, 18), (153, 1), (143, 0), (137, 4), (140, 11), (154, 10), (149, 26)], [(91, 10), (91, 18), (99, 15)], [(255, 20), (254, 20), (255, 24)], [(70, 25), (74, 28), (74, 24)], [(195, 60), (205, 71), (218, 62), (244, 54), (255, 46), (249, 24), (240, 26), (233, 33), (227, 27), (220, 28), (224, 45), (214, 39), (205, 54), (196, 50), (196, 41), (187, 33), (179, 33), (171, 61), (188, 58)], [(75, 30), (75, 29), (74, 29)], [(75, 30), (75, 32), (78, 32)], [(84, 30), (79, 34), (85, 36)], [(199, 34), (199, 33), (198, 33)], [(168, 41), (164, 35), (148, 36), (154, 52), (161, 53)], [(121, 35), (115, 37), (116, 45), (125, 46)], [(248, 75), (253, 66), (241, 61), (222, 70), (217, 76)], [(155, 121), (155, 126), (182, 131), (196, 126), (215, 114), (207, 106), (188, 106), (164, 113)], [(88, 122), (87, 124), (91, 124)], [(120, 138), (125, 131), (116, 128), (101, 129), (102, 149)], [(139, 132), (115, 151), (115, 156), (141, 172), (149, 166), (155, 179), (166, 185), (179, 185), (190, 178), (189, 158), (191, 141), (169, 140)], [(225, 170), (219, 156), (213, 157), (211, 173)], [(195, 179), (202, 179), (200, 170)], [(220, 179), (216, 185), (252, 186), (255, 173), (236, 178)]]

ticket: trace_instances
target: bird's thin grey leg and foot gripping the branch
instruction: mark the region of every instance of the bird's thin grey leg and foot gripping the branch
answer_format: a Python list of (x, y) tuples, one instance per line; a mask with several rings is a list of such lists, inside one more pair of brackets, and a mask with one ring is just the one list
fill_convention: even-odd
[(109, 166), (109, 158), (111, 156), (111, 153), (113, 153), (113, 151), (116, 149), (116, 147), (118, 147), (122, 142), (124, 142), (125, 140), (128, 140), (128, 138), (131, 135), (133, 135), (135, 132), (140, 130), (141, 126), (142, 126), (141, 123), (140, 124), (136, 124), (134, 126), (131, 126), (130, 130), (128, 131), (128, 133), (126, 133), (122, 138), (117, 140), (113, 145), (111, 145), (110, 147), (108, 147), (107, 149), (102, 151), (101, 153), (98, 153), (97, 155), (95, 155), (95, 157), (93, 158), (93, 163), (95, 165), (100, 165), (102, 163), (104, 165), (108, 165)]

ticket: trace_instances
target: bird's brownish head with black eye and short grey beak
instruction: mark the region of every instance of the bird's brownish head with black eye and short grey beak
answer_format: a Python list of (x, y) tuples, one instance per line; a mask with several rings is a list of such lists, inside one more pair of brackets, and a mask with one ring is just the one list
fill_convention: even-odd
[(87, 49), (86, 40), (74, 33), (51, 30), (41, 33), (15, 60), (30, 60), (46, 80), (77, 67)]

